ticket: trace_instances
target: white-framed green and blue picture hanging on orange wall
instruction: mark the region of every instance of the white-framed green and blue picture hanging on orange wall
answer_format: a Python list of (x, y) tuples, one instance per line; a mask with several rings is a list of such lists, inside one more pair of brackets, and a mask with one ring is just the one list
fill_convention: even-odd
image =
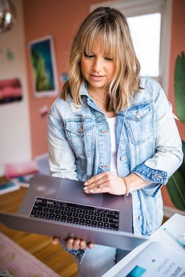
[(53, 38), (48, 36), (31, 41), (29, 53), (35, 96), (56, 96), (58, 94), (58, 82)]

